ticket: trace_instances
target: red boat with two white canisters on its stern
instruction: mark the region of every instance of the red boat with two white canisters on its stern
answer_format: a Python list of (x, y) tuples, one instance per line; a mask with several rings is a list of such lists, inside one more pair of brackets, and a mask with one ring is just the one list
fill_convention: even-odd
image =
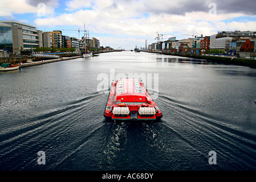
[(162, 113), (143, 82), (134, 78), (112, 82), (104, 117), (107, 121), (160, 121)]

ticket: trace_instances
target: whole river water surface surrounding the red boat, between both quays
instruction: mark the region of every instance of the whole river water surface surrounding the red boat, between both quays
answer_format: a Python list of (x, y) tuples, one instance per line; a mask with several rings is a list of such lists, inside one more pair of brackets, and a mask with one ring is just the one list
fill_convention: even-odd
[[(256, 169), (256, 69), (123, 51), (0, 74), (1, 170)], [(160, 122), (105, 122), (119, 76), (147, 82)]]

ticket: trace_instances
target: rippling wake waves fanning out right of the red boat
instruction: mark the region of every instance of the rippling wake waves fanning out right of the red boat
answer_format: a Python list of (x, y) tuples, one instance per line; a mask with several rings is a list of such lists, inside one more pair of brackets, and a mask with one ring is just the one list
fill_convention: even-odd
[(209, 151), (216, 150), (223, 160), (227, 160), (218, 166), (219, 169), (229, 169), (230, 160), (235, 161), (246, 154), (242, 163), (255, 168), (255, 134), (230, 125), (225, 118), (206, 113), (204, 109), (194, 109), (184, 101), (160, 95), (157, 103), (160, 107), (165, 105), (162, 109), (165, 115), (163, 125), (176, 133), (177, 139), (186, 146), (186, 151), (191, 148), (198, 155), (207, 156)]

